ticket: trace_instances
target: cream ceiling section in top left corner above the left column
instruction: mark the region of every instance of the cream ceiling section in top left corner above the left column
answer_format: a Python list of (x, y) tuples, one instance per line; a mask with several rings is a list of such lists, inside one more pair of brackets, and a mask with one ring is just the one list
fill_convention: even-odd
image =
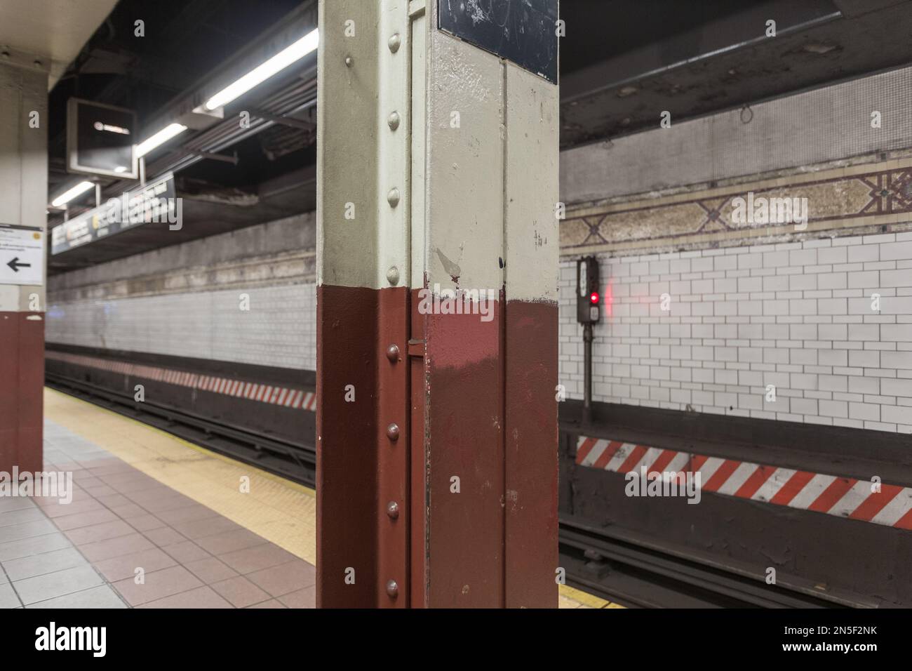
[(76, 58), (117, 0), (3, 0), (0, 47), (50, 59), (47, 89)]

